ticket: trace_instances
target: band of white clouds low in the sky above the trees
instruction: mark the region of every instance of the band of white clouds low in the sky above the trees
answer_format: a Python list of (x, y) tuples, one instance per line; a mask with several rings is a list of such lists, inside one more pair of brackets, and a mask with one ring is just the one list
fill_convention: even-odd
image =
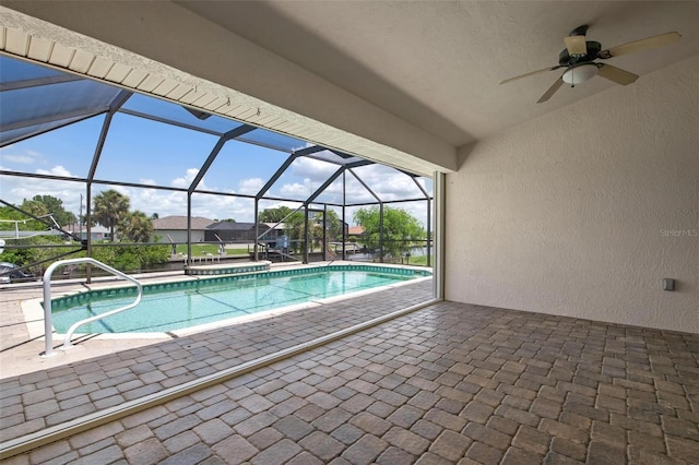
[[(288, 182), (282, 186), (279, 191), (280, 196), (289, 199), (305, 200), (313, 192), (321, 182), (327, 179), (327, 175), (316, 176), (312, 172), (315, 168), (327, 169), (335, 168), (317, 160), (305, 162), (299, 169), (313, 176), (307, 176), (299, 182)], [(336, 168), (335, 168), (336, 169)], [(330, 169), (334, 172), (334, 169)], [(37, 174), (71, 177), (71, 172), (63, 166), (55, 166), (50, 169), (36, 170)], [(171, 186), (188, 188), (191, 181), (198, 175), (196, 168), (188, 169), (183, 176), (173, 180)], [(380, 166), (367, 166), (357, 168), (356, 172), (360, 178), (384, 201), (418, 198), (422, 195), (414, 182), (400, 171)], [(351, 203), (374, 202), (375, 199), (367, 190), (351, 175), (347, 175), (347, 186), (345, 187), (347, 201)], [(153, 180), (142, 178), (143, 183), (152, 184)], [(264, 184), (265, 180), (261, 178), (248, 178), (239, 182), (238, 189), (240, 193), (254, 194)], [(203, 186), (203, 187), (202, 187)], [(208, 189), (205, 183), (200, 184), (200, 189)], [(131, 210), (139, 210), (146, 215), (157, 213), (161, 217), (168, 215), (187, 215), (187, 193), (177, 191), (158, 190), (154, 188), (132, 188), (126, 186), (95, 186), (93, 196), (99, 191), (114, 189), (127, 195), (130, 199)], [(210, 189), (213, 190), (213, 189)], [(234, 191), (228, 190), (228, 193)], [(32, 199), (34, 195), (52, 195), (63, 201), (63, 206), (78, 215), (80, 213), (81, 194), (85, 196), (85, 186), (82, 182), (57, 181), (36, 178), (24, 178), (15, 176), (3, 176), (0, 179), (0, 196), (10, 203), (21, 204), (24, 199)], [(320, 201), (332, 203), (342, 203), (342, 183), (331, 184), (324, 194), (319, 198)], [(83, 199), (83, 212), (86, 200)], [(292, 210), (296, 210), (298, 202), (286, 201), (266, 201), (260, 204), (260, 211), (285, 205)], [(411, 215), (420, 222), (426, 222), (426, 202), (410, 202), (389, 204), (392, 207), (400, 207), (407, 211)], [(353, 224), (353, 214), (358, 207), (348, 206), (346, 210), (346, 220)], [(212, 219), (235, 218), (238, 222), (252, 222), (254, 215), (254, 202), (250, 199), (235, 198), (232, 195), (212, 195), (197, 194), (192, 195), (192, 215), (204, 216)]]

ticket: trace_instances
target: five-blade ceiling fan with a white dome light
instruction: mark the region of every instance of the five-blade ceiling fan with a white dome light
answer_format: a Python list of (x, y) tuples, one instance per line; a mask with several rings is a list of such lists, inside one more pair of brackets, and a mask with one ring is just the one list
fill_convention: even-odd
[(603, 50), (602, 45), (599, 41), (587, 40), (585, 34), (588, 32), (588, 27), (589, 26), (587, 25), (576, 27), (568, 37), (564, 37), (566, 48), (558, 55), (558, 64), (555, 67), (544, 68), (543, 70), (532, 71), (531, 73), (506, 79), (500, 84), (507, 84), (508, 82), (529, 78), (534, 74), (565, 68), (566, 71), (550, 87), (548, 87), (544, 95), (542, 95), (542, 97), (536, 102), (537, 104), (548, 100), (564, 83), (570, 84), (571, 87), (574, 87), (576, 84), (589, 81), (594, 78), (595, 74), (620, 85), (629, 85), (638, 79), (638, 75), (611, 64), (595, 62), (594, 60), (606, 60), (621, 55), (636, 53), (637, 51), (663, 47), (675, 44), (682, 37), (679, 34), (672, 32), (633, 40), (628, 44), (618, 45)]

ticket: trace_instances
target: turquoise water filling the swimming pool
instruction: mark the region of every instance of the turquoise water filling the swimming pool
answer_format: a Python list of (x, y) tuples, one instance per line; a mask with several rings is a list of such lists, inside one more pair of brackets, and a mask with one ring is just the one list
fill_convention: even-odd
[[(78, 329), (79, 333), (166, 332), (308, 302), (398, 282), (429, 271), (371, 265), (331, 265), (183, 283), (143, 286), (143, 299), (126, 310)], [(135, 288), (91, 290), (51, 301), (54, 327), (66, 333), (76, 321), (126, 306)]]

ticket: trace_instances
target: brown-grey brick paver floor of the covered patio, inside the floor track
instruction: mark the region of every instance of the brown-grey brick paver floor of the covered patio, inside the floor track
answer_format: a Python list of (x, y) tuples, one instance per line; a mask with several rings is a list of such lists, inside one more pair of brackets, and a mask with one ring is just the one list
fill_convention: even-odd
[(8, 462), (690, 464), (698, 409), (699, 335), (440, 302)]

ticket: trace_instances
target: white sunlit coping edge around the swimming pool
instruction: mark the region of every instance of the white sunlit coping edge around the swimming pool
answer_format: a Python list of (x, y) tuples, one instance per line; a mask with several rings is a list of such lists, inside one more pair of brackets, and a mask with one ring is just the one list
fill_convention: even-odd
[[(399, 270), (415, 270), (415, 271), (422, 271), (425, 272), (428, 269), (424, 267), (424, 266), (412, 266), (412, 265), (399, 265), (399, 264), (392, 264), (392, 263), (366, 263), (366, 262), (352, 262), (352, 261), (330, 261), (330, 262), (315, 262), (315, 263), (305, 263), (305, 264), (298, 264), (298, 263), (273, 263), (270, 267), (270, 270), (261, 270), (261, 271), (256, 271), (256, 272), (250, 272), (250, 273), (246, 273), (249, 275), (257, 275), (257, 274), (263, 274), (263, 273), (270, 273), (270, 272), (274, 272), (277, 271), (280, 269), (284, 269), (284, 267), (294, 267), (296, 270), (308, 270), (308, 269), (317, 269), (317, 267), (323, 267), (323, 266), (330, 266), (330, 265), (347, 265), (347, 266), (376, 266), (376, 267), (392, 267), (392, 269), (399, 269)], [(237, 274), (239, 275), (239, 274)], [(215, 276), (214, 276), (215, 277)], [(208, 281), (211, 279), (212, 276), (206, 276), (206, 275), (175, 275), (171, 276), (170, 279), (167, 281), (167, 283), (183, 283), (183, 282), (196, 282), (196, 281)], [(284, 306), (284, 307), (277, 307), (274, 309), (269, 309), (269, 310), (263, 310), (260, 312), (256, 312), (252, 314), (247, 314), (247, 315), (239, 315), (239, 317), (234, 317), (234, 318), (229, 318), (229, 319), (225, 319), (225, 320), (220, 320), (220, 321), (214, 321), (214, 322), (210, 322), (210, 323), (204, 323), (204, 324), (199, 324), (196, 326), (191, 326), (191, 327), (186, 327), (186, 329), (181, 329), (181, 330), (173, 330), (173, 331), (167, 331), (167, 332), (150, 332), (150, 333), (74, 333), (73, 334), (73, 339), (79, 339), (81, 337), (86, 337), (86, 336), (91, 336), (92, 339), (98, 339), (98, 341), (117, 341), (117, 339), (152, 339), (153, 342), (157, 342), (157, 341), (168, 341), (168, 339), (173, 339), (173, 338), (179, 338), (179, 337), (185, 337), (185, 336), (189, 336), (192, 334), (198, 334), (201, 332), (205, 332), (205, 331), (211, 331), (211, 330), (217, 330), (221, 327), (227, 327), (227, 326), (234, 326), (234, 325), (238, 325), (238, 324), (245, 324), (245, 323), (249, 323), (251, 321), (258, 321), (258, 320), (264, 320), (264, 319), (269, 319), (269, 318), (274, 318), (284, 313), (288, 313), (288, 312), (293, 312), (293, 311), (299, 311), (299, 310), (306, 310), (306, 309), (311, 309), (311, 308), (317, 308), (323, 305), (328, 305), (328, 303), (333, 303), (336, 301), (341, 301), (351, 297), (360, 297), (360, 296), (365, 296), (368, 294), (374, 294), (377, 291), (381, 291), (381, 290), (386, 290), (386, 289), (392, 289), (392, 288), (396, 288), (396, 287), (401, 287), (401, 286), (405, 286), (407, 284), (412, 284), (412, 283), (419, 283), (423, 281), (427, 281), (427, 279), (433, 279), (433, 275), (430, 276), (424, 276), (424, 277), (416, 277), (413, 279), (408, 279), (408, 281), (404, 281), (404, 282), (399, 282), (395, 284), (390, 284), (390, 285), (386, 285), (386, 286), (378, 286), (378, 287), (372, 287), (370, 289), (362, 289), (362, 290), (356, 290), (353, 293), (348, 293), (348, 294), (343, 294), (340, 296), (333, 296), (333, 297), (328, 297), (324, 299), (313, 299), (313, 300), (309, 300), (306, 302), (301, 302), (301, 303), (295, 303), (292, 306)], [(78, 294), (84, 294), (91, 290), (100, 290), (100, 289), (109, 289), (109, 288), (119, 288), (119, 287), (123, 287), (125, 282), (123, 281), (115, 281), (115, 279), (109, 279), (109, 281), (104, 281), (104, 282), (97, 282), (97, 283), (93, 283), (93, 284), (84, 284), (84, 289), (72, 289), (72, 290), (67, 290), (63, 293), (59, 293), (56, 295), (52, 295), (51, 297), (55, 298), (59, 298), (59, 297), (67, 297), (67, 296), (74, 296)], [(45, 333), (44, 333), (44, 307), (42, 306), (42, 301), (43, 301), (43, 297), (42, 298), (35, 298), (35, 299), (27, 299), (21, 302), (21, 308), (22, 308), (22, 313), (24, 315), (24, 323), (26, 326), (26, 331), (28, 333), (28, 336), (31, 339), (36, 339), (36, 341), (44, 341), (45, 339)], [(64, 338), (64, 333), (58, 333), (56, 332), (56, 329), (54, 329), (54, 337), (63, 339)], [(62, 348), (62, 347), (61, 347)]]

